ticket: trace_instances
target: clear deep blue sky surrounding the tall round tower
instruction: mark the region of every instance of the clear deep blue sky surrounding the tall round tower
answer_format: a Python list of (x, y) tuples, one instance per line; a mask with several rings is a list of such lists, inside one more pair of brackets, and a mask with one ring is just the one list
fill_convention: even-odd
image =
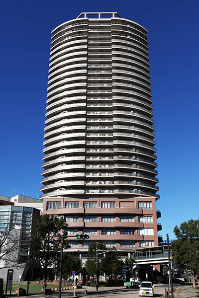
[(0, 194), (39, 196), (51, 30), (118, 11), (149, 31), (163, 230), (199, 218), (199, 1), (7, 0), (0, 9)]

